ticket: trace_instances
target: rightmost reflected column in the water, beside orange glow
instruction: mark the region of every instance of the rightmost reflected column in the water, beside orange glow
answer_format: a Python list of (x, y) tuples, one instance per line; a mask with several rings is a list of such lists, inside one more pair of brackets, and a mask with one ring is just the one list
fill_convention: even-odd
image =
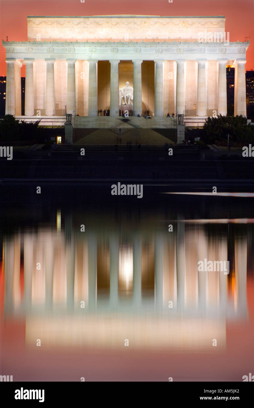
[(246, 314), (247, 234), (245, 231), (240, 236), (235, 237), (234, 256), (237, 311), (240, 312), (240, 314)]

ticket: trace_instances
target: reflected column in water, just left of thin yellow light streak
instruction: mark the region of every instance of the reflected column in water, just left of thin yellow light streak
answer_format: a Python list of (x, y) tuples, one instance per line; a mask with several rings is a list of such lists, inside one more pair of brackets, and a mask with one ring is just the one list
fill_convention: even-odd
[(45, 306), (52, 308), (53, 304), (53, 241), (52, 236), (47, 237), (44, 246), (44, 271), (45, 271)]

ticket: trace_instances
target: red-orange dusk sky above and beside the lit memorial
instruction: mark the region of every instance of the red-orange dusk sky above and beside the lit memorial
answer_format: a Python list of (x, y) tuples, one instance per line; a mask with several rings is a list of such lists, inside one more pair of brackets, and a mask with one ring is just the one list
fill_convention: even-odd
[[(254, 69), (254, 0), (0, 0), (0, 39), (6, 40), (8, 35), (9, 41), (27, 41), (27, 16), (117, 14), (225, 16), (230, 41), (252, 37), (245, 68)], [(2, 45), (0, 50), (0, 75), (6, 75)]]

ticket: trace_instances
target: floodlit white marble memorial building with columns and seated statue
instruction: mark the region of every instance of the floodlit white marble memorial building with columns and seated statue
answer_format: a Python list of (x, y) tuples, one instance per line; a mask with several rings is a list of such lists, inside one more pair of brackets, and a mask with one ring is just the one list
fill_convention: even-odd
[(89, 118), (109, 110), (116, 117), (127, 109), (202, 123), (227, 114), (226, 66), (233, 65), (234, 115), (246, 116), (249, 42), (228, 36), (224, 16), (28, 16), (27, 41), (2, 42), (6, 114), (60, 123), (66, 113)]

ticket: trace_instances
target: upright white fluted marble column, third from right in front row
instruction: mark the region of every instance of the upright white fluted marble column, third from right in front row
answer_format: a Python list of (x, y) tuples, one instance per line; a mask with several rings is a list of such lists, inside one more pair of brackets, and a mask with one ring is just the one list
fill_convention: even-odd
[(198, 83), (197, 83), (197, 116), (207, 115), (207, 84), (206, 84), (206, 60), (197, 60)]

